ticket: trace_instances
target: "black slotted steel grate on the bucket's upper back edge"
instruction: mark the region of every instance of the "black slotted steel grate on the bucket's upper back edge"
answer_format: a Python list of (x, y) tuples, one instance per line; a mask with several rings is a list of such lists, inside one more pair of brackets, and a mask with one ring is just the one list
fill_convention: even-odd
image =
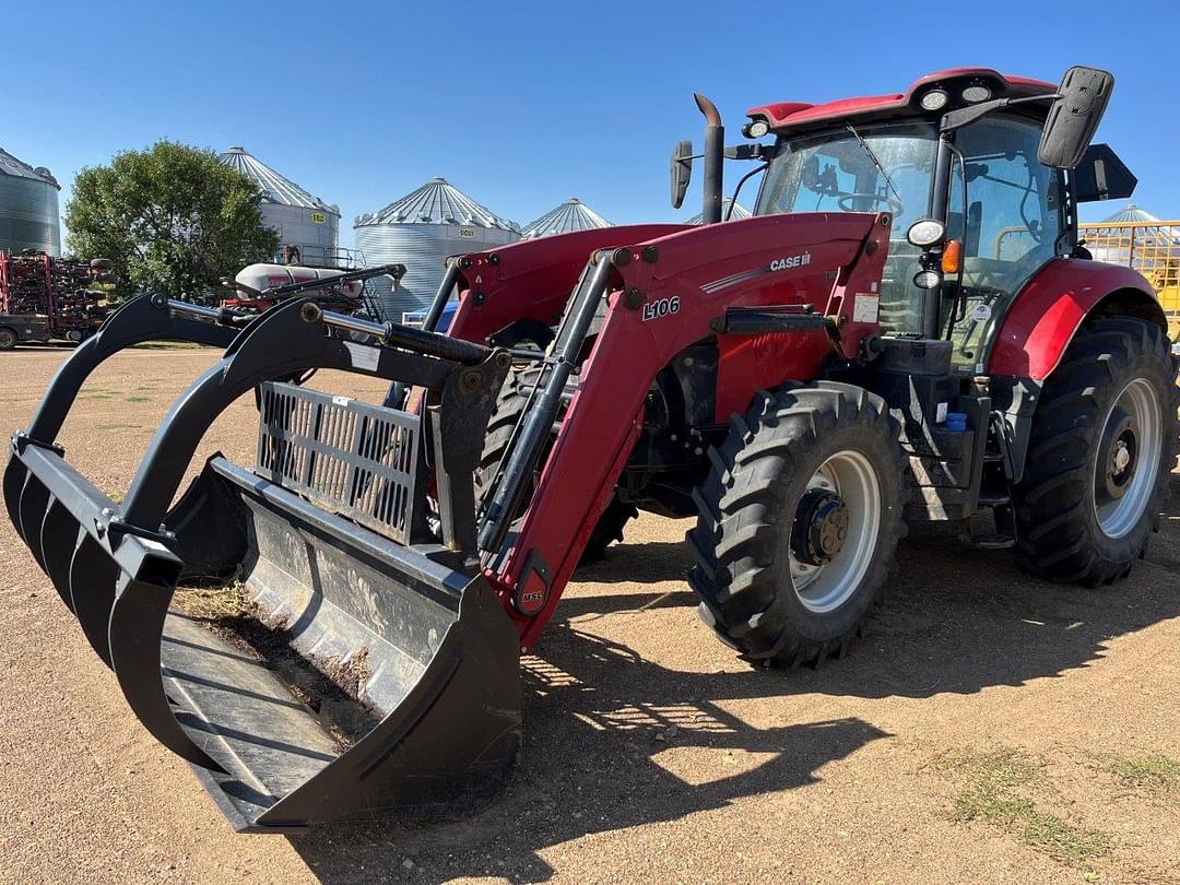
[(258, 476), (409, 543), (417, 415), (277, 382), (261, 400)]

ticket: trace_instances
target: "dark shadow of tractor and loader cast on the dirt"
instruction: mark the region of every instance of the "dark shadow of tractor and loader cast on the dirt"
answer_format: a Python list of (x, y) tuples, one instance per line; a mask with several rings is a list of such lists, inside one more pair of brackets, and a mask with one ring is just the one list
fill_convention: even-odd
[[(545, 859), (553, 846), (815, 784), (825, 765), (891, 735), (857, 716), (792, 722), (795, 696), (936, 699), (1062, 677), (1100, 660), (1112, 638), (1180, 615), (1180, 481), (1161, 516), (1147, 560), (1096, 590), (1031, 578), (1007, 552), (968, 550), (950, 530), (914, 531), (870, 636), (818, 670), (702, 673), (713, 664), (644, 660), (615, 638), (625, 632), (618, 618), (687, 634), (696, 602), (682, 583), (636, 586), (678, 579), (686, 556), (675, 542), (611, 549), (578, 572), (582, 585), (523, 662), (522, 763), (502, 798), (455, 820), (316, 830), (291, 845), (326, 883), (543, 881), (560, 872)], [(712, 638), (697, 629), (676, 642)], [(723, 648), (713, 657), (733, 663)], [(766, 700), (758, 723), (730, 712), (750, 699)]]

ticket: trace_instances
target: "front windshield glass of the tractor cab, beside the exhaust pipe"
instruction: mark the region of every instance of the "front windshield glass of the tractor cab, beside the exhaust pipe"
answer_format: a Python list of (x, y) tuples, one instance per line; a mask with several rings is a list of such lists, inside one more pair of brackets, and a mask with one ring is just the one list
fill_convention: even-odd
[(905, 231), (930, 209), (937, 148), (938, 130), (925, 120), (782, 142), (766, 171), (756, 212), (892, 212), (880, 323), (885, 332), (917, 332), (925, 293), (912, 280), (920, 269), (920, 249), (905, 241)]

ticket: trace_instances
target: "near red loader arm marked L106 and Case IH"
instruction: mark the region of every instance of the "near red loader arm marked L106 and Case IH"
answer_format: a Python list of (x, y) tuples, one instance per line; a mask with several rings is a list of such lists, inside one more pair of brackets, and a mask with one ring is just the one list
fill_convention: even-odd
[[(765, 386), (814, 376), (837, 347), (854, 354), (877, 330), (874, 321), (853, 315), (853, 304), (858, 294), (879, 290), (891, 221), (886, 214), (766, 216), (597, 254), (596, 261), (614, 264), (605, 322), (509, 555), (490, 573), (524, 648), (552, 615), (617, 481), (656, 373), (683, 348), (725, 328), (729, 309), (786, 302), (809, 303), (830, 317), (834, 340), (814, 326), (719, 335), (753, 337), (782, 355), (778, 376), (762, 376)], [(566, 322), (575, 313), (571, 304)], [(558, 343), (563, 334), (565, 323)], [(747, 382), (740, 407), (754, 393)], [(543, 604), (526, 605), (532, 614), (523, 614), (522, 599), (538, 596)]]

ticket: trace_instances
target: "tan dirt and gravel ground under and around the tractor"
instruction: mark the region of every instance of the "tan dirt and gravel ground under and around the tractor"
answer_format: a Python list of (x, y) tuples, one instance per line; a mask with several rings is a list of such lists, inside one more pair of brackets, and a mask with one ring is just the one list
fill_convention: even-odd
[[(0, 354), (5, 434), (66, 355)], [(70, 460), (119, 493), (215, 355), (112, 360), (61, 434)], [(202, 450), (249, 463), (254, 432), (243, 400)], [(1051, 586), (914, 532), (872, 635), (794, 673), (714, 640), (682, 581), (687, 524), (644, 517), (578, 573), (525, 660), (524, 758), (503, 799), (289, 839), (229, 828), (4, 519), (0, 880), (1180, 883), (1173, 486), (1147, 560), (1113, 589)]]

